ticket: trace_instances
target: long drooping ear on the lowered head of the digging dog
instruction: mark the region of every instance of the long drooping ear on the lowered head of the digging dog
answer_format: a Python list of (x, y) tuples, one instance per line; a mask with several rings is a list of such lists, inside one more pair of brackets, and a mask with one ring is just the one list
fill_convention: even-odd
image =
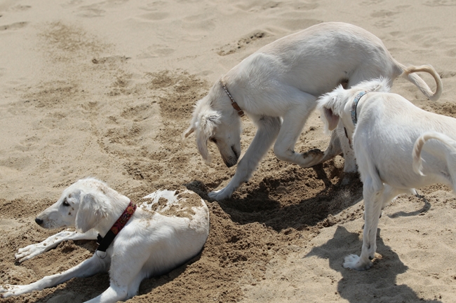
[(216, 111), (205, 111), (199, 116), (196, 130), (196, 145), (204, 160), (209, 160), (208, 140), (215, 134), (215, 127), (220, 123), (220, 113)]

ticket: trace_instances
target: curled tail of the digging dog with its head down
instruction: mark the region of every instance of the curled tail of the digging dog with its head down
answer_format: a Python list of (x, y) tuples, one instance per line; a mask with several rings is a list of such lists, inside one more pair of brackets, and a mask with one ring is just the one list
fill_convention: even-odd
[[(440, 76), (438, 76), (438, 73), (436, 72), (434, 67), (430, 65), (405, 67), (402, 64), (400, 64), (400, 67), (403, 70), (401, 73), (401, 77), (415, 84), (421, 90), (424, 96), (427, 97), (427, 99), (431, 101), (436, 101), (438, 100), (438, 98), (440, 98), (442, 94), (443, 85), (442, 80), (440, 79)], [(427, 83), (424, 82), (424, 80), (416, 74), (419, 71), (430, 73), (434, 80), (436, 80), (436, 92), (432, 92), (431, 88), (429, 88)]]

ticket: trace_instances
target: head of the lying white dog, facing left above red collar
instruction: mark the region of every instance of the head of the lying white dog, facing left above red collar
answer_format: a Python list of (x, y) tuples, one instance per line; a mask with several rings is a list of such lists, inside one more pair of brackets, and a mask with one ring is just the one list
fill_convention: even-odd
[(35, 222), (48, 229), (76, 227), (78, 232), (87, 232), (107, 213), (106, 192), (109, 190), (112, 189), (94, 178), (79, 180), (65, 189), (58, 201), (40, 213)]

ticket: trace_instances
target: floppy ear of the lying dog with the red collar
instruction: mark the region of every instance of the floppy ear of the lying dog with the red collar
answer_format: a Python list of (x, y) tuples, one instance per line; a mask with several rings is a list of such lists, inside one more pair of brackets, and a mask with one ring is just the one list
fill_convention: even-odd
[(93, 194), (83, 195), (79, 204), (74, 227), (78, 232), (87, 232), (102, 219), (102, 199)]

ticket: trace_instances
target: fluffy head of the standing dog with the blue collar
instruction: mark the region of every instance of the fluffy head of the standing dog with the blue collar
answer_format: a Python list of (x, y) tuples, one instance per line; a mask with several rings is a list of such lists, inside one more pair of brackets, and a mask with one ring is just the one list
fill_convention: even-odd
[(344, 90), (342, 85), (337, 86), (332, 92), (323, 94), (318, 99), (317, 108), (321, 111), (321, 120), (324, 123), (324, 131), (329, 133), (333, 131), (339, 122), (342, 122), (345, 128), (346, 136), (351, 140), (355, 126), (351, 121), (351, 105), (360, 91), (365, 92), (389, 92), (389, 80), (378, 78), (369, 81), (363, 81), (358, 85)]

